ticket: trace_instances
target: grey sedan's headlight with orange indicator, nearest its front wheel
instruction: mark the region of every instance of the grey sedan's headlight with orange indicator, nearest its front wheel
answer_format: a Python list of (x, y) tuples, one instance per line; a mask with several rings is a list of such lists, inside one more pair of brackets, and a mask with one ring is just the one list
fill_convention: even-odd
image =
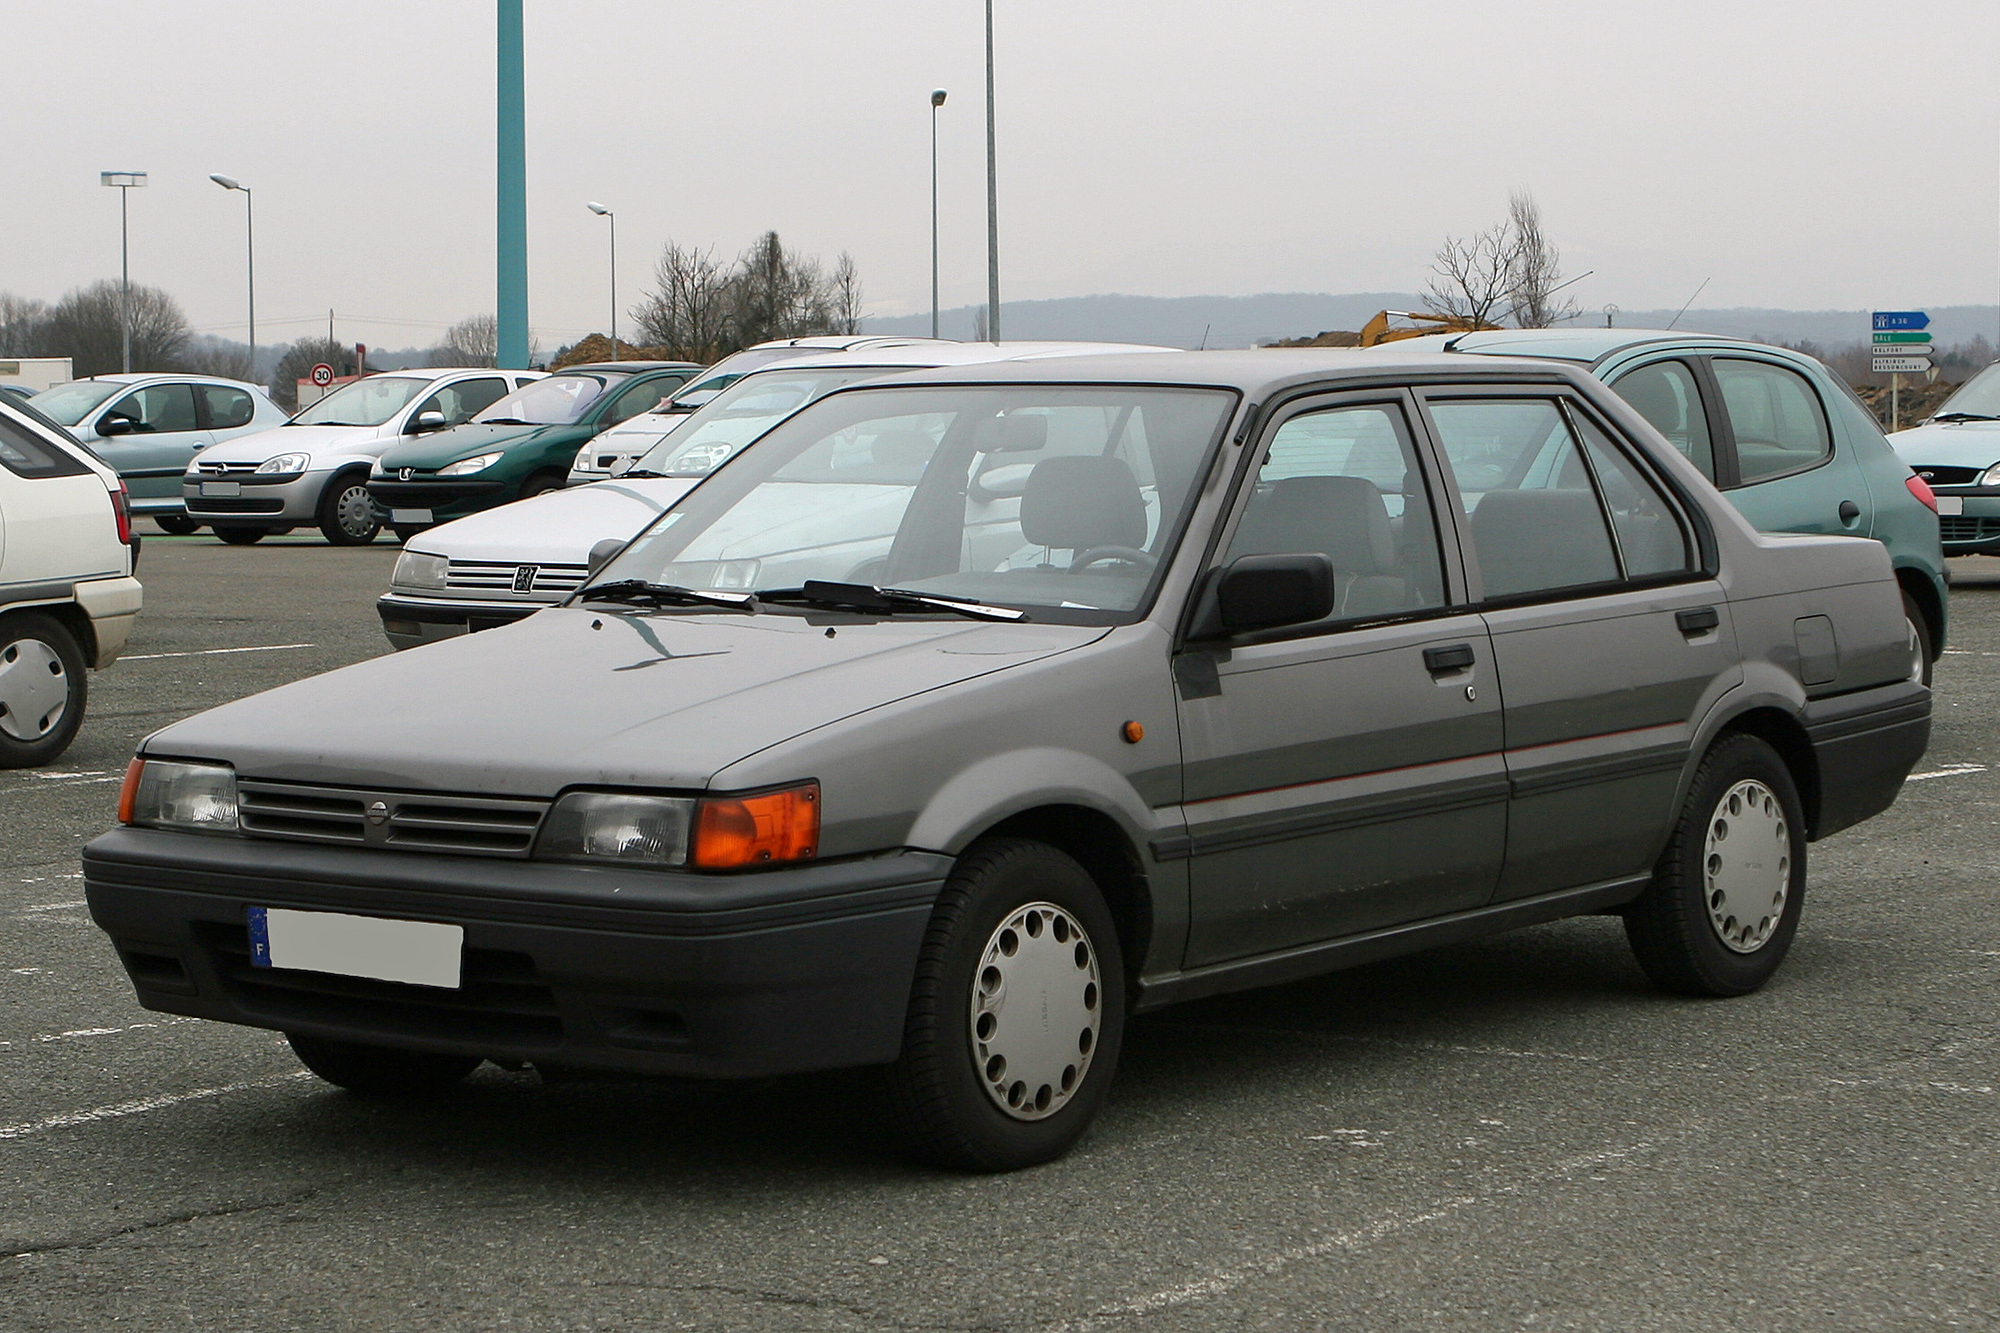
[(556, 801), (534, 845), (534, 855), (546, 861), (704, 871), (810, 861), (818, 851), (818, 783), (702, 799), (572, 791)]

